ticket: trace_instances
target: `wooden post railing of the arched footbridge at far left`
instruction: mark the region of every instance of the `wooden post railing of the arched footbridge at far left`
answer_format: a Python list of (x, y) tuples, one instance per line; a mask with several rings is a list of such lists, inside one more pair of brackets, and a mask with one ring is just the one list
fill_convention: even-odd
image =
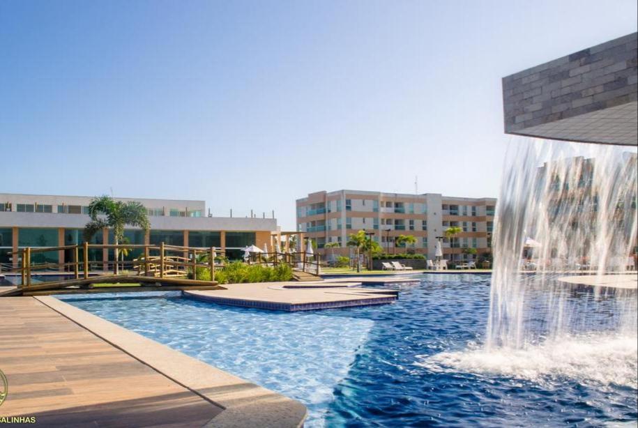
[[(142, 257), (133, 259), (132, 261), (122, 260), (101, 260), (89, 261), (89, 250), (118, 250), (117, 254), (121, 254), (121, 250), (142, 249)], [(39, 254), (52, 251), (70, 251), (72, 261), (63, 263), (33, 263), (33, 254)], [(79, 257), (82, 250), (82, 258)], [(192, 271), (192, 279), (197, 280), (197, 268), (208, 269), (211, 273), (211, 280), (215, 280), (215, 257), (223, 256), (224, 252), (220, 248), (200, 248), (200, 247), (181, 247), (177, 245), (139, 245), (139, 244), (89, 244), (81, 245), (62, 245), (59, 247), (25, 247), (16, 252), (10, 252), (13, 257), (20, 257), (20, 266), (8, 271), (20, 271), (21, 286), (31, 285), (31, 274), (37, 270), (56, 270), (60, 273), (73, 272), (73, 279), (80, 277), (89, 278), (91, 266), (102, 266), (99, 270), (102, 275), (116, 273), (119, 266), (130, 266), (136, 270), (137, 275), (156, 276), (160, 278), (185, 276), (188, 270)], [(179, 255), (176, 255), (179, 254)], [(118, 267), (116, 267), (118, 266)], [(4, 270), (5, 272), (7, 270)], [(130, 275), (130, 273), (126, 273)]]

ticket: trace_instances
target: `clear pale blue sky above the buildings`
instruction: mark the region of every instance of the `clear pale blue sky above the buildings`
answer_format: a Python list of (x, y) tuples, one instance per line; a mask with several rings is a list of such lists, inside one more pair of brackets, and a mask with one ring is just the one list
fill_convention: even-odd
[(495, 197), (501, 77), (637, 30), (635, 0), (0, 2), (0, 191)]

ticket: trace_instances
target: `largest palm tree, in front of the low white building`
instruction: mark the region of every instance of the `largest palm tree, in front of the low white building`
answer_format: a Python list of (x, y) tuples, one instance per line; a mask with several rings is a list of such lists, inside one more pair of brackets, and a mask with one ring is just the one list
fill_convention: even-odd
[[(84, 226), (84, 240), (88, 242), (102, 229), (113, 229), (114, 244), (124, 238), (124, 226), (139, 227), (146, 233), (151, 227), (146, 208), (135, 201), (115, 201), (103, 195), (91, 199), (89, 204), (91, 221)], [(115, 249), (115, 274), (118, 274), (118, 250)]]

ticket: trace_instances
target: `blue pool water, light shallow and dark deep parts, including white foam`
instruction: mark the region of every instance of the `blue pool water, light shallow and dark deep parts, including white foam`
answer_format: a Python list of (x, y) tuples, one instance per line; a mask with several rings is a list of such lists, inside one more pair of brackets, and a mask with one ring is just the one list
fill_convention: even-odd
[[(571, 367), (565, 346), (477, 353), (489, 277), (424, 275), (398, 287), (392, 305), (294, 313), (178, 293), (59, 298), (299, 399), (308, 427), (601, 426), (638, 418), (632, 342), (578, 342), (578, 355), (586, 346), (595, 364), (574, 373), (554, 363)], [(587, 296), (575, 299), (588, 304)]]

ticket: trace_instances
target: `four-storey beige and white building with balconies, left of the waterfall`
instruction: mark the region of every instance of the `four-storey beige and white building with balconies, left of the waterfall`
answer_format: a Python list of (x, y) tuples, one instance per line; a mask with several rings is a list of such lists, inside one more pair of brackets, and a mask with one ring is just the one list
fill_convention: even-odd
[[(348, 235), (365, 229), (386, 252), (414, 252), (433, 258), (440, 239), (443, 257), (449, 260), (473, 259), (463, 249), (476, 248), (478, 254), (491, 251), (494, 229), (494, 198), (448, 197), (436, 193), (401, 194), (337, 190), (314, 192), (297, 199), (297, 231), (312, 238), (321, 249), (337, 242), (335, 254), (348, 254)], [(460, 227), (454, 238), (443, 238), (448, 227)], [(417, 243), (409, 248), (395, 247), (395, 238), (412, 235)], [(325, 250), (323, 251), (325, 253)]]

